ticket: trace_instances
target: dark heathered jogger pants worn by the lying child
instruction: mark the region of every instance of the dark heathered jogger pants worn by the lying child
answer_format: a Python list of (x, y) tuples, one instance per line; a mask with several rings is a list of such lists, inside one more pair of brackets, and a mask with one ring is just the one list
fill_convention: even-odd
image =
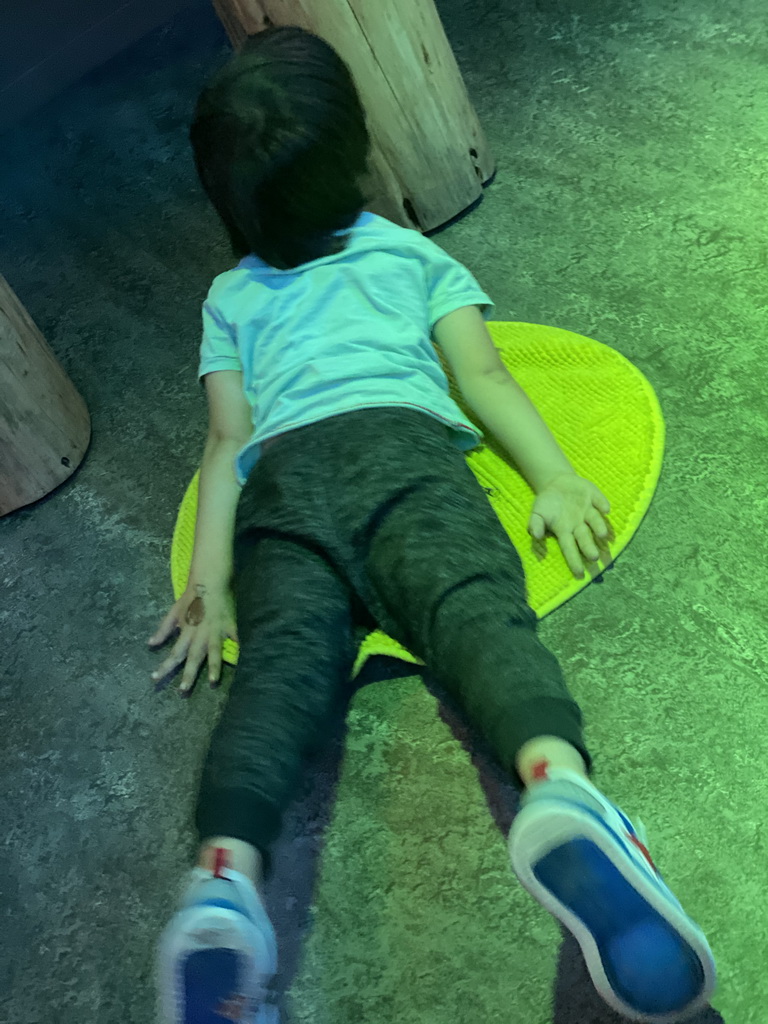
[(582, 714), (537, 635), (520, 556), (449, 428), (412, 408), (279, 437), (240, 498), (240, 657), (201, 780), (201, 842), (270, 846), (351, 696), (360, 628), (421, 658), (518, 787), (539, 735), (585, 759)]

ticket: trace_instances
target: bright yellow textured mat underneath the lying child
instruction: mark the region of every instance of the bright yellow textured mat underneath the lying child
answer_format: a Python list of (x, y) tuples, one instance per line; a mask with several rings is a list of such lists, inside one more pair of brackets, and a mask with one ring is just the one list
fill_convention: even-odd
[[(573, 468), (597, 484), (609, 500), (613, 538), (610, 554), (615, 559), (640, 525), (662, 471), (665, 424), (653, 388), (629, 359), (591, 338), (539, 324), (490, 322), (487, 328), (508, 370), (525, 389)], [(476, 422), (447, 365), (441, 361), (453, 398)], [(482, 424), (477, 425), (482, 428)], [(527, 523), (534, 493), (505, 460), (493, 435), (485, 432), (483, 446), (468, 453), (467, 461), (520, 552), (528, 601), (539, 618), (584, 590), (596, 577), (601, 578), (608, 567), (604, 563), (591, 569), (585, 566), (584, 578), (578, 580), (554, 537), (548, 536), (543, 542), (532, 540)], [(184, 592), (189, 575), (199, 477), (200, 470), (186, 488), (173, 532), (174, 600)], [(223, 641), (224, 662), (237, 665), (239, 651), (233, 640)], [(360, 644), (352, 678), (374, 654), (424, 664), (391, 637), (376, 631)]]

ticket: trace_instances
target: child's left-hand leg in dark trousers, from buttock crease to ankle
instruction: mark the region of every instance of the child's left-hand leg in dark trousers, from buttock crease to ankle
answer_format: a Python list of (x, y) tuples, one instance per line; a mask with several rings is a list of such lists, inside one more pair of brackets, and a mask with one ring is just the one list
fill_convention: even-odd
[[(292, 526), (274, 518), (275, 529)], [(319, 554), (266, 537), (237, 564), (240, 656), (203, 768), (197, 863), (213, 870), (225, 848), (229, 867), (263, 891), (307, 754), (342, 714), (356, 645), (347, 585)]]

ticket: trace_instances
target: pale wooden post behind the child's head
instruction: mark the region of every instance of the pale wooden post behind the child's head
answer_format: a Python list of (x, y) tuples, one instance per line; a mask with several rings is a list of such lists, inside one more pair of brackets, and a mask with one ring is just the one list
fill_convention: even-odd
[(213, 0), (236, 49), (270, 25), (325, 39), (372, 137), (368, 209), (429, 231), (482, 195), (495, 163), (433, 0)]

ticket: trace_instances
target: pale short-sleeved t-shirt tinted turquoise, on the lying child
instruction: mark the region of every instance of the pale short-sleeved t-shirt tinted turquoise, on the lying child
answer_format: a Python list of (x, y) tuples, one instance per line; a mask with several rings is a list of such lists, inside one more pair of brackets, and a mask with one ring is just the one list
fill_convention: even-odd
[(419, 231), (365, 212), (349, 234), (342, 252), (290, 270), (246, 256), (211, 285), (198, 376), (243, 373), (253, 433), (234, 460), (241, 486), (269, 437), (358, 409), (421, 410), (463, 452), (483, 436), (449, 393), (432, 328), (461, 306), (489, 319), (494, 303)]

